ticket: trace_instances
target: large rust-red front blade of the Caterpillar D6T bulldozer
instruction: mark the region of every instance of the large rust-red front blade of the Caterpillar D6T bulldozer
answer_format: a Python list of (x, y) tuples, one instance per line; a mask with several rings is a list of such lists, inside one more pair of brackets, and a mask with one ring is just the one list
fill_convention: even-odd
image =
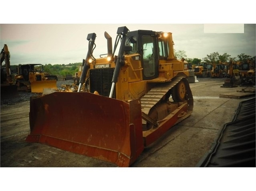
[[(70, 101), (71, 104), (67, 104)], [(30, 98), (30, 134), (40, 142), (128, 167), (144, 149), (139, 100), (123, 102), (85, 92)]]

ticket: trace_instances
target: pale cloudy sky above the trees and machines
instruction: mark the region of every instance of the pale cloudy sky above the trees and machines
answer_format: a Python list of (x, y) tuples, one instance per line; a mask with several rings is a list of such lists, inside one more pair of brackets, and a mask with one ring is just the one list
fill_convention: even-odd
[(255, 24), (1, 24), (0, 45), (8, 45), (12, 65), (76, 63), (87, 55), (88, 33), (97, 35), (94, 56), (99, 57), (107, 53), (104, 32), (114, 44), (120, 26), (172, 32), (174, 49), (184, 50), (187, 58), (202, 59), (214, 52), (256, 55)]

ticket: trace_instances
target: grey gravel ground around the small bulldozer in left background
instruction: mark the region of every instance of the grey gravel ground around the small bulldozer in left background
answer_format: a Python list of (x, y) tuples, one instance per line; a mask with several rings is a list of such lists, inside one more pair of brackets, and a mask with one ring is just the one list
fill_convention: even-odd
[[(73, 80), (67, 80), (67, 81), (57, 81), (57, 88), (59, 89), (61, 85), (72, 85)], [(31, 92), (18, 92), (17, 95), (11, 95), (11, 96), (1, 96), (1, 107), (5, 105), (14, 105), (19, 102), (25, 102), (30, 100), (30, 96), (36, 96), (40, 95), (38, 93), (31, 93)]]

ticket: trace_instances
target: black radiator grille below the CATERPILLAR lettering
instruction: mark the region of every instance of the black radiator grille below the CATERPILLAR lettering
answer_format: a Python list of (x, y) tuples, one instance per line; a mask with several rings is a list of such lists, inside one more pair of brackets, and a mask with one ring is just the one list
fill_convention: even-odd
[[(99, 95), (108, 97), (112, 86), (112, 78), (115, 68), (91, 69), (90, 92), (97, 91)], [(115, 98), (115, 89), (112, 98)]]

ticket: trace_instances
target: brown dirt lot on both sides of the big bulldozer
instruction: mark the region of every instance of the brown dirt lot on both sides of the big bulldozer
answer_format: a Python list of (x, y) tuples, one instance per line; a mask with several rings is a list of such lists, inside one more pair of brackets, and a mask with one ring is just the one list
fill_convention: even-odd
[[(223, 79), (198, 80), (190, 84), (194, 96), (191, 116), (145, 148), (132, 167), (194, 167), (210, 150), (218, 130), (232, 120), (239, 102), (251, 98), (220, 97), (222, 93), (242, 88), (221, 88)], [(1, 104), (1, 167), (116, 166), (44, 144), (25, 142), (30, 132), (28, 113), (29, 100)]]

